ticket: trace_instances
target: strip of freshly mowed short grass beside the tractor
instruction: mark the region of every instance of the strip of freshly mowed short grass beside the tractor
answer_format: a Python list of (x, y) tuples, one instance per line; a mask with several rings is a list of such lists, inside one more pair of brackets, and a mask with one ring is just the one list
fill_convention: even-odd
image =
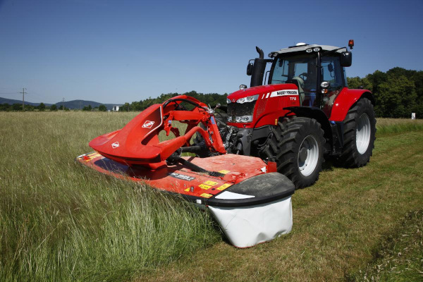
[(423, 132), (397, 131), (378, 134), (367, 166), (327, 162), (315, 185), (297, 190), (289, 235), (245, 250), (221, 242), (139, 280), (338, 281), (365, 269), (403, 216), (423, 205)]

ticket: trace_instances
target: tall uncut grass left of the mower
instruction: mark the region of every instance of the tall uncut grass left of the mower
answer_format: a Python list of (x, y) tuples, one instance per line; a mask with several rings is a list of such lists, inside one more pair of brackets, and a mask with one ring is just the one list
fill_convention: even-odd
[(121, 281), (219, 240), (183, 201), (75, 164), (134, 113), (0, 113), (0, 281)]

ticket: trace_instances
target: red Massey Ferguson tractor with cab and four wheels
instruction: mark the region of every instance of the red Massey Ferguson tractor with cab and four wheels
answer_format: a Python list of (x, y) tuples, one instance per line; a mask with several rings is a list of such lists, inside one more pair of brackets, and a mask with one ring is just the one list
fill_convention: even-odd
[[(353, 40), (348, 46), (353, 49)], [(264, 59), (256, 49), (259, 58), (247, 66), (250, 88), (241, 85), (228, 95), (226, 125), (220, 127), (226, 151), (276, 161), (295, 188), (319, 178), (324, 157), (345, 167), (367, 164), (376, 133), (374, 97), (348, 89), (351, 51), (300, 43)]]

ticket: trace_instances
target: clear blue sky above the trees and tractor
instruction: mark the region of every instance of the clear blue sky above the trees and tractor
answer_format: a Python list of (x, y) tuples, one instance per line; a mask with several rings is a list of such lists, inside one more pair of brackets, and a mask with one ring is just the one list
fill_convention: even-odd
[(0, 97), (123, 103), (230, 93), (247, 61), (298, 42), (343, 47), (348, 76), (422, 70), (423, 1), (0, 0)]

